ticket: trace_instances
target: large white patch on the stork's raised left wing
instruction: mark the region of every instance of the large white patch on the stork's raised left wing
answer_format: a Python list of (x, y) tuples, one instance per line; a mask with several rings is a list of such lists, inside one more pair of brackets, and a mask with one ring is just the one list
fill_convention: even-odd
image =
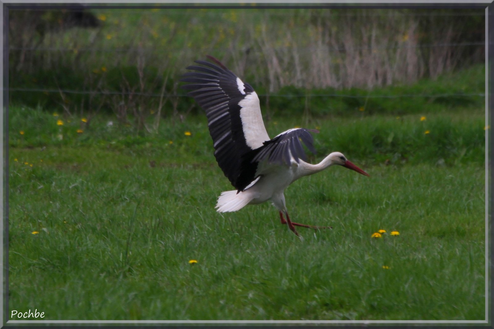
[(255, 91), (247, 94), (239, 102), (239, 105), (241, 107), (240, 119), (242, 120), (242, 130), (244, 131), (247, 146), (252, 149), (261, 147), (262, 143), (269, 141), (269, 136), (262, 121), (259, 98)]

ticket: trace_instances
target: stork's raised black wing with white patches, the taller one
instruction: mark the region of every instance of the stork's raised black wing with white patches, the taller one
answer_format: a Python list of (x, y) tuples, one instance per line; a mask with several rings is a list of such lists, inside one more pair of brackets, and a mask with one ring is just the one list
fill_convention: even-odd
[[(189, 66), (181, 81), (191, 89), (189, 96), (206, 111), (209, 134), (213, 140), (214, 157), (219, 167), (239, 191), (250, 182), (239, 177), (253, 177), (257, 163), (243, 165), (246, 154), (263, 145), (269, 136), (262, 122), (259, 98), (248, 83), (211, 56), (213, 63), (196, 61), (202, 66)], [(242, 115), (241, 115), (242, 113)]]

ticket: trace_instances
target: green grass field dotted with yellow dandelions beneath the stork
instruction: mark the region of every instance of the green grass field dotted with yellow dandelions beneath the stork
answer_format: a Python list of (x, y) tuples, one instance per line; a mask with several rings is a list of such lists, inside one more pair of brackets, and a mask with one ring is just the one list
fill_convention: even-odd
[(267, 203), (215, 212), (232, 187), (205, 117), (163, 120), (159, 134), (139, 136), (104, 117), (77, 133), (81, 118), (22, 107), (9, 115), (9, 311), (37, 308), (49, 320), (485, 318), (481, 109), (422, 121), (266, 122), (271, 136), (319, 127), (311, 162), (338, 150), (371, 175), (338, 167), (293, 183), (290, 217), (333, 227), (300, 228), (303, 240)]

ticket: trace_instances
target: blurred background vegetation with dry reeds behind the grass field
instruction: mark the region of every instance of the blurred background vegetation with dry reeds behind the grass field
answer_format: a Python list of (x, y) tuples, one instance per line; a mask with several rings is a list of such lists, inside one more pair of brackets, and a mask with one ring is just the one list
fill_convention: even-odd
[(484, 41), (484, 9), (10, 9), (9, 102), (153, 132), (210, 54), (267, 120), (483, 107)]

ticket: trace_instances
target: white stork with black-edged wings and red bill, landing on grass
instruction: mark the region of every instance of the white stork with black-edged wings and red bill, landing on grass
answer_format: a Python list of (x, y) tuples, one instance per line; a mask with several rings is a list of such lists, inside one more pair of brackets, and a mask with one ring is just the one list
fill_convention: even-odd
[[(295, 128), (270, 139), (262, 121), (259, 98), (244, 83), (212, 56), (213, 62), (195, 61), (181, 81), (190, 89), (189, 96), (206, 111), (207, 125), (213, 140), (214, 156), (219, 167), (236, 188), (222, 192), (216, 204), (220, 213), (240, 210), (248, 204), (271, 201), (280, 212), (282, 224), (298, 236), (295, 226), (327, 228), (292, 222), (285, 203), (285, 188), (303, 176), (318, 173), (329, 166), (340, 165), (369, 176), (348, 161), (340, 152), (332, 152), (319, 164), (306, 159), (305, 146), (315, 153), (312, 135), (317, 130)], [(287, 217), (283, 217), (283, 214)]]

